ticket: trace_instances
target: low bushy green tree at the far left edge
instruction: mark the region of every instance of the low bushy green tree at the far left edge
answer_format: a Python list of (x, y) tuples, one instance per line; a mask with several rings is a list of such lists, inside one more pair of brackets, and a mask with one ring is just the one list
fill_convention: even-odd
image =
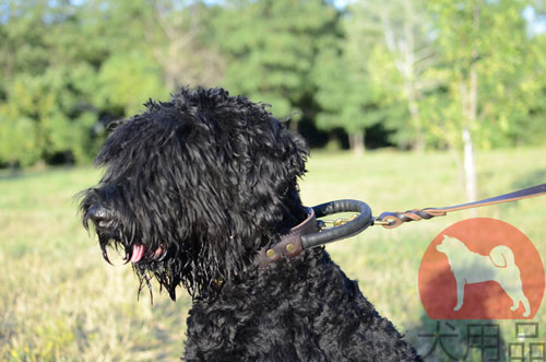
[(85, 66), (17, 75), (0, 104), (0, 162), (25, 166), (59, 155), (88, 160), (90, 149), (96, 150), (88, 132), (96, 114), (84, 106), (79, 86), (93, 75)]

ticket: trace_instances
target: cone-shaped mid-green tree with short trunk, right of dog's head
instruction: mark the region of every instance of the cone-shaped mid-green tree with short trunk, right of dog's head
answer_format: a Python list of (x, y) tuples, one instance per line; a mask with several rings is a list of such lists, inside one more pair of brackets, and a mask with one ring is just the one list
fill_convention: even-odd
[(345, 130), (356, 154), (365, 150), (366, 129), (384, 121), (394, 109), (392, 97), (373, 83), (369, 69), (372, 51), (358, 31), (359, 21), (354, 13), (344, 17), (343, 36), (321, 49), (313, 71), (316, 100), (321, 106), (317, 126)]

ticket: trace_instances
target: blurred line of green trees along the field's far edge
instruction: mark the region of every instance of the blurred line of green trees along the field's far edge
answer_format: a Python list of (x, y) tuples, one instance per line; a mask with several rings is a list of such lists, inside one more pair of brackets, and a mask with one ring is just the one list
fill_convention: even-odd
[(7, 0), (0, 166), (90, 162), (109, 121), (188, 84), (271, 104), (313, 145), (346, 139), (357, 153), (390, 144), (468, 161), (476, 148), (545, 144), (543, 5)]

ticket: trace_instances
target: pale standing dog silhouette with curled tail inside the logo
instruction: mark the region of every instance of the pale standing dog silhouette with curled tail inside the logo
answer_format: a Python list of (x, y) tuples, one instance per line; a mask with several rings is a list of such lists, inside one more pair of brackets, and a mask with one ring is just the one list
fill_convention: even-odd
[(523, 304), (524, 317), (531, 314), (529, 300), (523, 294), (520, 269), (514, 264), (513, 252), (505, 245), (494, 247), (488, 256), (471, 252), (463, 242), (455, 237), (443, 235), (443, 241), (436, 247), (448, 257), (451, 271), (456, 281), (456, 305), (454, 311), (461, 310), (464, 300), (464, 285), (496, 281), (510, 296), (513, 305), (510, 310), (518, 310)]

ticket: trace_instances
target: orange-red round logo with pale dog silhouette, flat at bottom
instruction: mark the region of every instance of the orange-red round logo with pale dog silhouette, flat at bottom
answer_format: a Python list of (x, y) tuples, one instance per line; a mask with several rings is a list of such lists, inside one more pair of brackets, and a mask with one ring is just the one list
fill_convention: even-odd
[(449, 226), (430, 243), (419, 268), (419, 295), (431, 319), (531, 319), (544, 283), (533, 243), (495, 219)]

